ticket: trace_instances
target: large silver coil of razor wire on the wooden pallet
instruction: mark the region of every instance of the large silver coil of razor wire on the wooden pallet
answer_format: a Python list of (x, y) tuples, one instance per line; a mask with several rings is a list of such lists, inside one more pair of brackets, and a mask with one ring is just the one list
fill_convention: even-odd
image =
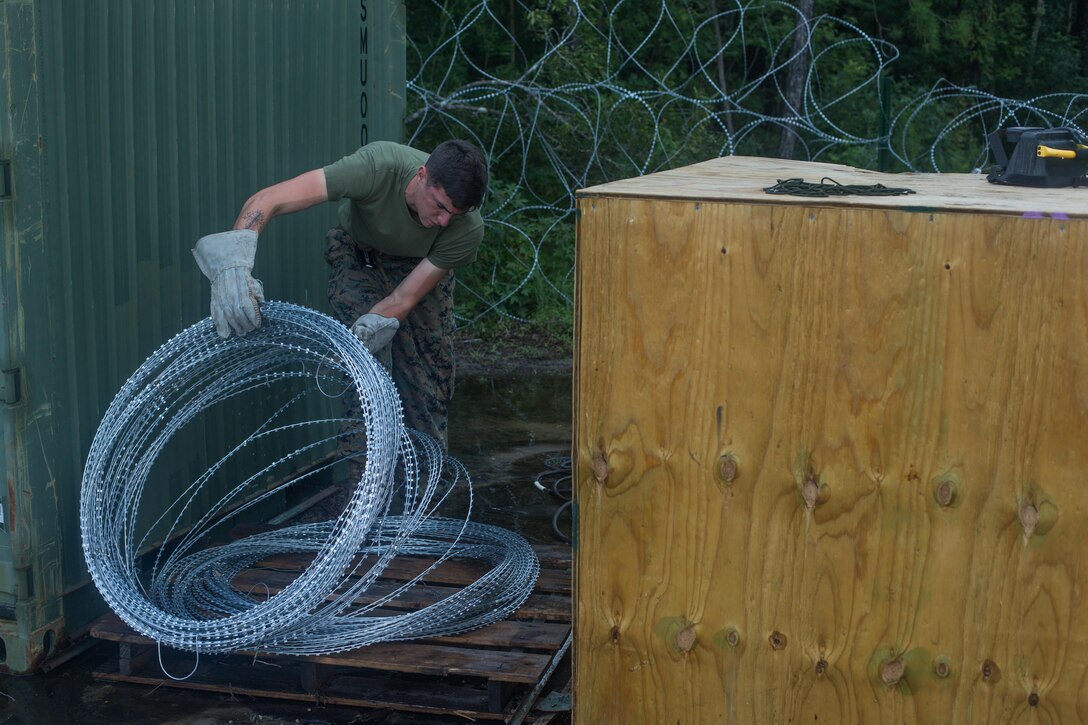
[[(183, 650), (323, 654), (465, 631), (520, 606), (540, 570), (532, 548), (517, 533), (470, 521), (467, 513), (465, 519), (436, 516), (461, 488), (471, 509), (468, 471), (435, 441), (404, 427), (385, 369), (346, 327), (320, 312), (265, 303), (261, 315), (261, 328), (246, 337), (219, 337), (210, 319), (183, 331), (139, 367), (107, 409), (87, 455), (79, 524), (88, 569), (110, 607), (136, 631)], [(239, 405), (244, 394), (283, 386), (286, 402), (228, 445), (165, 511), (140, 514), (141, 502), (152, 499), (148, 487), (162, 477), (157, 458), (186, 426), (217, 406)], [(314, 393), (357, 395), (361, 421), (292, 418)], [(257, 486), (335, 443), (345, 422), (361, 422), (367, 443), (361, 474), (337, 518), (210, 545), (243, 512), (337, 463), (267, 490)], [(212, 484), (245, 452), (299, 432), (312, 440), (262, 460), (234, 486)], [(145, 553), (156, 542), (171, 545), (148, 562)], [(312, 558), (274, 591), (260, 581), (236, 583), (247, 567), (280, 554)], [(397, 555), (433, 557), (433, 564), (403, 583), (375, 587)], [(449, 557), (479, 560), (486, 573), (422, 609), (383, 609)]]

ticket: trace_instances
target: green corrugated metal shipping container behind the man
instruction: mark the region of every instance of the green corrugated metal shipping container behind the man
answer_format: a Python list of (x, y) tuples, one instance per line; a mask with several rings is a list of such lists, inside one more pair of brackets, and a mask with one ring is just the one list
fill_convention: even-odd
[[(0, 662), (26, 672), (100, 610), (83, 460), (109, 402), (207, 316), (190, 248), (262, 186), (398, 140), (404, 5), (364, 0), (0, 3)], [(267, 294), (326, 309), (326, 205), (261, 237)], [(164, 507), (230, 416), (162, 462)], [(154, 502), (152, 502), (152, 507)]]

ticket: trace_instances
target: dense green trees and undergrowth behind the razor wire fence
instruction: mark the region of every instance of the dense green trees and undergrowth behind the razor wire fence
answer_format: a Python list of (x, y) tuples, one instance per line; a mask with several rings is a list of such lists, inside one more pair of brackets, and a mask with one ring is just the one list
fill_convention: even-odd
[[(812, 125), (790, 125), (778, 119), (796, 115), (783, 100), (795, 8), (407, 2), (412, 142), (468, 137), (493, 160), (486, 241), (458, 273), (460, 319), (569, 327), (578, 187), (725, 153), (776, 156), (783, 128), (798, 158), (968, 171), (987, 163), (977, 115), (987, 94), (1088, 88), (1088, 0), (836, 0), (812, 19), (818, 61), (801, 101)], [(893, 89), (886, 111), (876, 69), (892, 47), (899, 57), (879, 73)], [(942, 78), (977, 95), (942, 95)]]

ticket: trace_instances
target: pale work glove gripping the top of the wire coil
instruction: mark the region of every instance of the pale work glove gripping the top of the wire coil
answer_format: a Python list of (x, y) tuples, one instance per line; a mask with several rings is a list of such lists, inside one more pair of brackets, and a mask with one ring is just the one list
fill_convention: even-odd
[(258, 303), (264, 287), (250, 272), (257, 257), (257, 232), (239, 229), (209, 234), (193, 249), (200, 271), (211, 280), (211, 319), (220, 337), (245, 336), (261, 327)]

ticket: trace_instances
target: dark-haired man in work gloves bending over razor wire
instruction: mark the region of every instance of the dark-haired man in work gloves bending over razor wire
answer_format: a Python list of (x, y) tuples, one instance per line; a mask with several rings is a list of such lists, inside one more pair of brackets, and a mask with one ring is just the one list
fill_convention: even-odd
[[(388, 358), (405, 423), (446, 446), (454, 392), (453, 270), (475, 259), (477, 210), (487, 187), (483, 153), (463, 140), (429, 156), (387, 142), (257, 192), (230, 232), (193, 250), (211, 280), (211, 315), (224, 337), (260, 325), (257, 238), (273, 217), (345, 199), (329, 231), (329, 299), (337, 318), (380, 359)], [(360, 450), (359, 438), (347, 447)]]

